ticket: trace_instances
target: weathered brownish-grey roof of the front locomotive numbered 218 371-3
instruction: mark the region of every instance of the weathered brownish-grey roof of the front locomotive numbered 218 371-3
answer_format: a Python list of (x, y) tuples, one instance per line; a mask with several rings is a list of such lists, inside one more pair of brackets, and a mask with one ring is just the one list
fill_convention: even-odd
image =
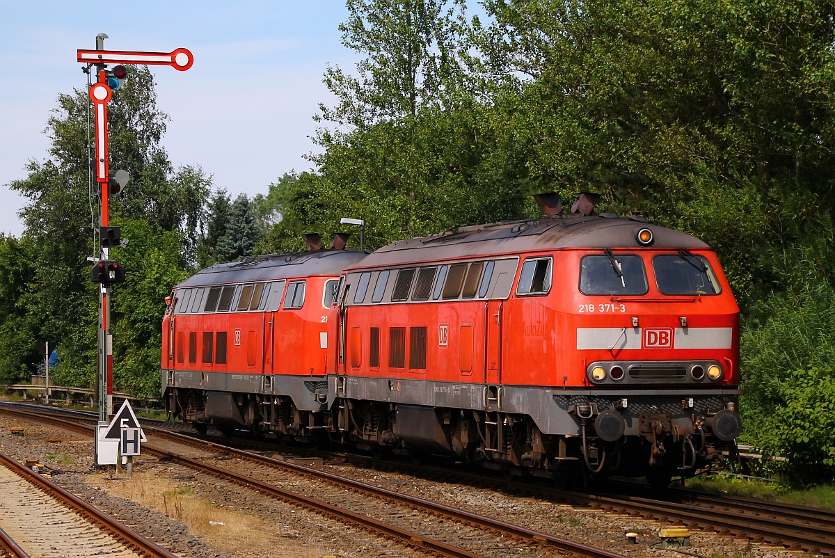
[(693, 236), (653, 225), (641, 217), (557, 215), (464, 226), (458, 232), (392, 242), (367, 256), (360, 265), (381, 266), (552, 249), (635, 249), (641, 247), (635, 234), (644, 228), (652, 231), (655, 240), (651, 247), (655, 249), (710, 248)]

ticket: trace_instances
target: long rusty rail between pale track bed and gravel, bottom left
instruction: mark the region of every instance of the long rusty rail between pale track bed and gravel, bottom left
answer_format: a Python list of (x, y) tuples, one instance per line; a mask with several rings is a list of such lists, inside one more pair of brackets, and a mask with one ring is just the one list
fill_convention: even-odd
[(165, 550), (162, 546), (154, 543), (154, 541), (139, 535), (139, 533), (129, 526), (124, 525), (121, 521), (116, 520), (111, 515), (81, 500), (78, 496), (68, 492), (68, 490), (64, 490), (58, 484), (43, 477), (43, 475), (35, 473), (32, 469), (28, 469), (28, 467), (18, 462), (17, 459), (4, 454), (2, 451), (0, 451), (0, 464), (3, 464), (4, 467), (18, 474), (19, 477), (22, 477), (38, 489), (43, 490), (48, 495), (59, 500), (63, 505), (66, 505), (84, 519), (89, 520), (95, 525), (99, 525), (100, 528), (110, 535), (114, 535), (116, 540), (119, 540), (119, 542), (129, 549), (134, 550), (136, 553), (149, 556), (149, 558), (177, 558), (177, 555)]

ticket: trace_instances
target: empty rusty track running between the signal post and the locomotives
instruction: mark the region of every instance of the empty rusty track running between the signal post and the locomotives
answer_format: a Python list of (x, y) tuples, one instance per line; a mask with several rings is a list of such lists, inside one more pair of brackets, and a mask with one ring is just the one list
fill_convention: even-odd
[[(16, 411), (18, 416), (21, 411)], [(68, 422), (61, 418), (44, 416), (43, 413), (28, 415), (33, 420), (48, 422), (64, 429), (73, 429), (83, 434), (92, 434), (92, 428), (76, 422)], [(75, 418), (73, 420), (80, 420)], [(402, 495), (392, 490), (382, 489), (372, 484), (346, 479), (324, 471), (310, 469), (285, 461), (271, 459), (244, 450), (207, 443), (182, 434), (172, 433), (163, 429), (145, 427), (146, 434), (155, 438), (154, 443), (143, 444), (143, 450), (157, 455), (160, 459), (185, 465), (186, 467), (208, 474), (215, 479), (238, 484), (249, 490), (257, 490), (292, 505), (301, 506), (321, 515), (335, 517), (338, 520), (367, 530), (390, 540), (396, 540), (400, 545), (421, 550), (428, 554), (449, 556), (451, 558), (475, 558), (483, 555), (483, 548), (497, 550), (495, 555), (501, 555), (508, 550), (536, 549), (548, 551), (556, 555), (571, 555), (585, 558), (617, 558), (621, 555), (608, 550), (602, 550), (590, 545), (565, 540), (554, 535), (525, 529), (519, 525), (512, 525), (504, 521), (494, 520), (483, 515), (476, 515), (453, 507), (441, 505), (429, 500), (422, 500), (408, 495)], [(178, 444), (180, 448), (165, 449), (161, 447), (160, 439)], [(182, 446), (200, 449), (204, 455), (189, 457), (183, 455)], [(220, 465), (213, 463), (220, 452), (224, 457), (235, 459), (221, 459)], [(235, 464), (235, 460), (249, 464), (246, 474), (235, 469), (247, 469)], [(235, 466), (236, 465), (236, 466)], [(293, 484), (300, 490), (286, 490), (276, 485), (276, 472), (283, 472), (282, 485)], [(266, 476), (271, 482), (256, 478)], [(308, 488), (301, 486), (298, 477), (311, 479)], [(331, 490), (324, 490), (326, 485)], [(333, 488), (336, 490), (333, 490)], [(303, 494), (307, 492), (307, 494)], [(350, 492), (346, 499), (345, 493)], [(341, 497), (340, 497), (341, 496)], [(326, 501), (328, 500), (328, 501)], [(348, 509), (346, 502), (354, 510)], [(364, 500), (364, 501), (361, 501)], [(381, 500), (385, 505), (380, 505)], [(410, 518), (417, 512), (424, 516), (431, 516), (437, 520), (431, 525), (425, 525), (422, 530), (416, 530), (414, 525), (428, 524), (420, 517)], [(371, 515), (384, 515), (386, 520), (377, 520)], [(405, 524), (405, 525), (404, 525)], [(428, 533), (427, 531), (431, 531)], [(430, 534), (432, 536), (430, 536)], [(444, 542), (446, 539), (455, 541), (453, 544)], [(468, 540), (466, 544), (473, 550), (462, 548), (459, 541)]]

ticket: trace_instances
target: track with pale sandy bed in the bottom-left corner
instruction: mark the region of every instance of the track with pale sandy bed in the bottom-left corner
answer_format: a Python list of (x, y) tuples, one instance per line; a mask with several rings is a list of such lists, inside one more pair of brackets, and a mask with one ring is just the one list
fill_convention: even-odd
[[(5, 527), (0, 544), (10, 556), (176, 558), (2, 452), (0, 511), (0, 525)], [(96, 528), (91, 530), (90, 525)]]

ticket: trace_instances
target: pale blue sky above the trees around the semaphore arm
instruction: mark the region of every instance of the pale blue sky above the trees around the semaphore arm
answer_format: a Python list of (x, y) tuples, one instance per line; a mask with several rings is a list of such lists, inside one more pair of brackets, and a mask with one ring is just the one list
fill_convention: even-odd
[(358, 59), (340, 43), (346, 18), (342, 0), (0, 0), (0, 231), (23, 232), (26, 200), (7, 185), (48, 156), (49, 111), (58, 94), (86, 87), (76, 50), (95, 48), (98, 33), (109, 50), (190, 49), (185, 72), (151, 67), (170, 115), (163, 145), (175, 167), (200, 165), (234, 197), (311, 167), (312, 117), (334, 103), (321, 83), (326, 65), (353, 71)]

